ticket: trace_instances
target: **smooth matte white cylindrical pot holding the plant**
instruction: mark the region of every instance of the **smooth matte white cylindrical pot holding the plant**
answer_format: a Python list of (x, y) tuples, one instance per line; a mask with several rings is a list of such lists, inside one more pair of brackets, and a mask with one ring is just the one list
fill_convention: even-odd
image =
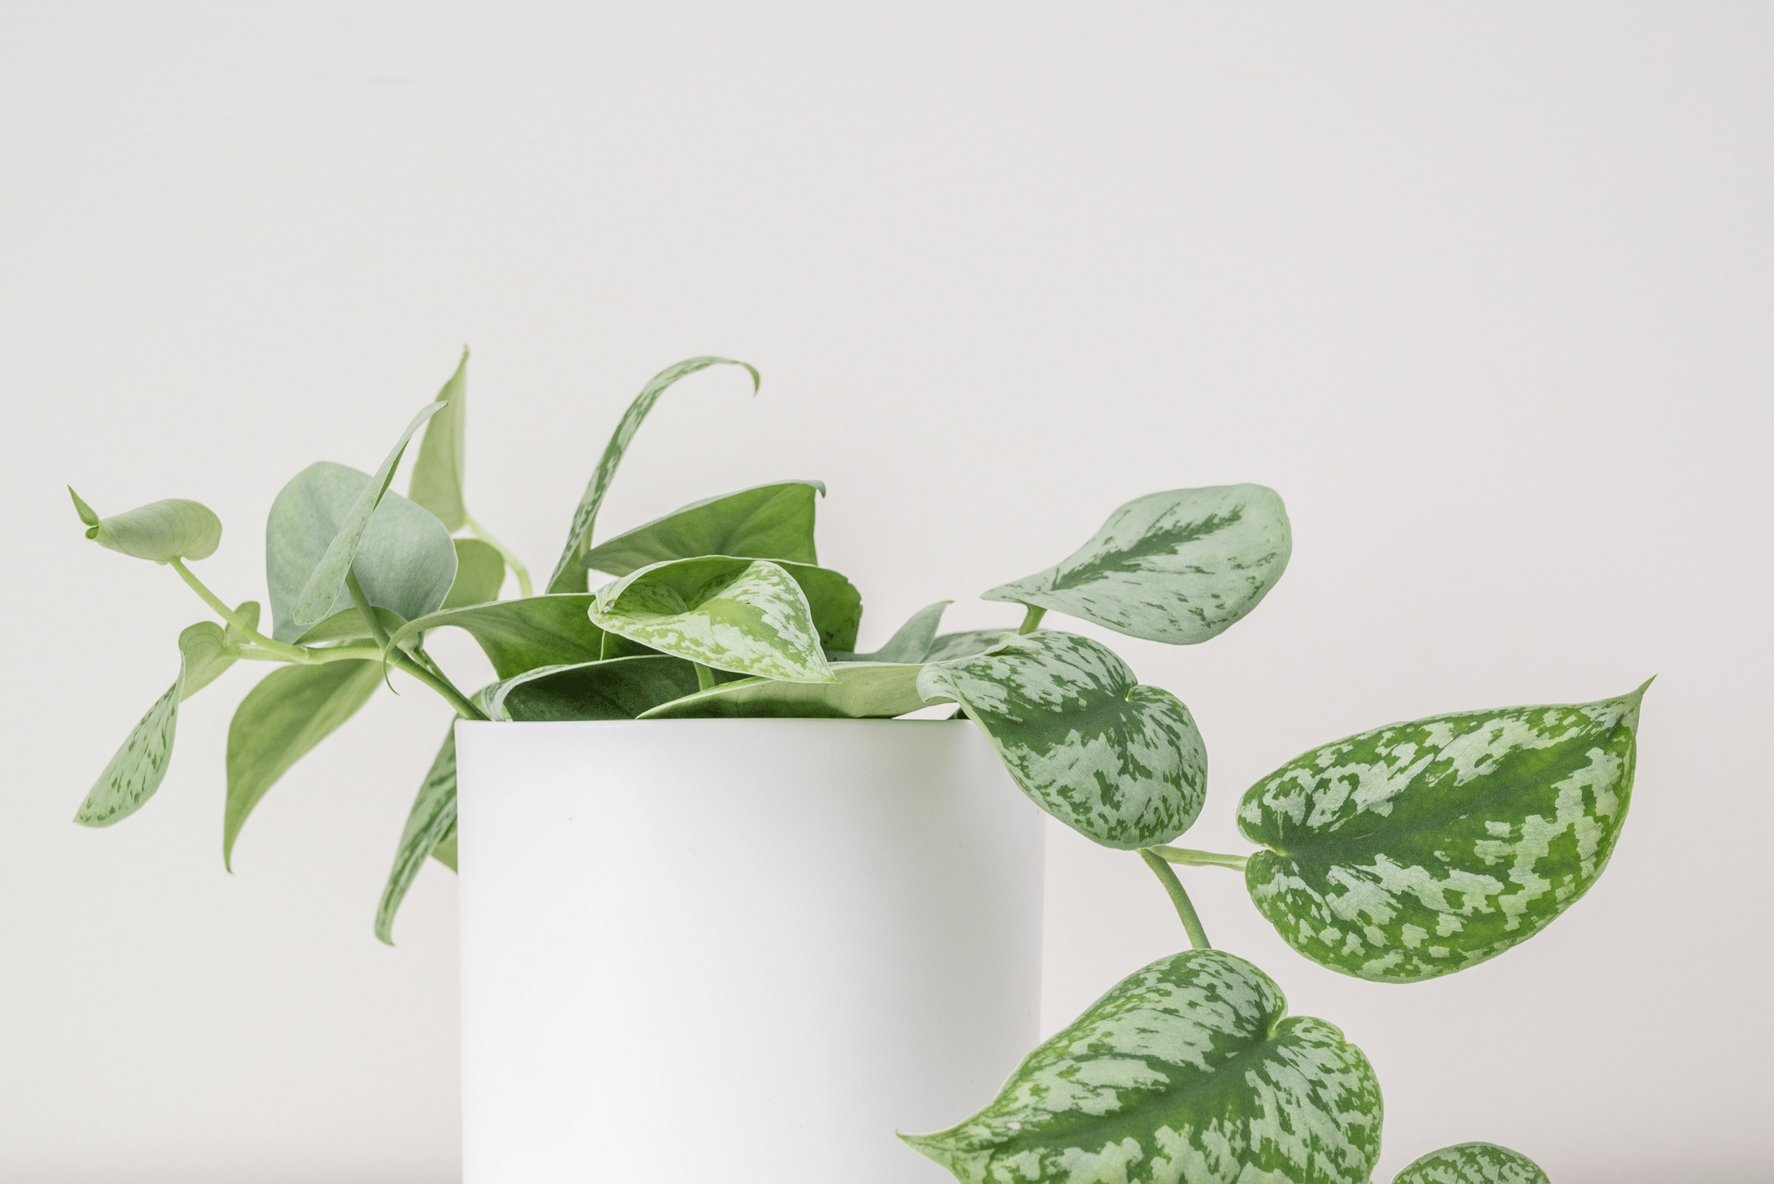
[(1041, 815), (967, 721), (458, 723), (465, 1184), (937, 1182), (1036, 1044)]

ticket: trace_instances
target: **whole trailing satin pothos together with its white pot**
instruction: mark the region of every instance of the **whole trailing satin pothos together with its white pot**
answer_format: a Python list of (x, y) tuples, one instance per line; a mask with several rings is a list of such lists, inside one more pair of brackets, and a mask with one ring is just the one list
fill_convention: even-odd
[[(444, 697), (458, 721), (374, 929), (392, 943), (420, 867), (456, 869), (461, 847), (470, 1184), (935, 1172), (892, 1147), (896, 1126), (946, 1127), (901, 1138), (965, 1182), (1368, 1180), (1384, 1108), (1366, 1056), (1213, 950), (1174, 869), (1240, 870), (1277, 932), (1330, 970), (1391, 984), (1465, 970), (1602, 874), (1644, 688), (1322, 744), (1242, 796), (1254, 853), (1176, 847), (1206, 789), (1194, 718), (1043, 619), (1217, 636), (1286, 567), (1281, 498), (1137, 498), (1068, 558), (985, 594), (1022, 606), (1020, 626), (942, 633), (938, 601), (857, 652), (860, 594), (818, 564), (818, 482), (594, 541), (648, 411), (713, 365), (743, 365), (756, 390), (757, 372), (724, 358), (655, 376), (539, 594), (463, 502), (467, 353), (373, 473), (319, 463), (277, 496), (270, 622), (186, 565), (220, 542), (202, 505), (101, 518), (75, 495), (89, 539), (172, 567), (220, 619), (179, 635), (172, 688), (76, 821), (114, 824), (154, 794), (179, 704), (234, 661), (280, 668), (229, 728), (224, 860), (277, 778), (390, 670)], [(420, 429), (403, 498), (389, 486)], [(507, 571), (516, 599), (498, 599)], [(608, 581), (593, 590), (591, 571)], [(474, 636), (493, 684), (465, 691), (431, 659), (442, 627)], [(933, 705), (947, 718), (901, 718)], [(1027, 1056), (1041, 845), (1022, 798), (1137, 853), (1189, 939)], [(1543, 1179), (1488, 1143), (1396, 1177)]]

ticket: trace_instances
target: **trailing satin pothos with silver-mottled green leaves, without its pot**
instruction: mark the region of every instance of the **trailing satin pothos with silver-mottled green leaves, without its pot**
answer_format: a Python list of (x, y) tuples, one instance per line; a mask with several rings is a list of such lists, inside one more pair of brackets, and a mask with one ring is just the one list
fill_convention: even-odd
[[(179, 635), (172, 686), (76, 814), (110, 826), (142, 808), (172, 755), (179, 705), (236, 661), (277, 668), (227, 737), (222, 858), (277, 780), (403, 672), (465, 720), (891, 720), (954, 704), (1029, 799), (1105, 847), (1137, 853), (1190, 948), (1121, 980), (1034, 1049), (979, 1113), (903, 1136), (967, 1184), (1361, 1184), (1380, 1152), (1368, 1058), (1323, 1019), (1288, 1016), (1276, 982), (1208, 945), (1174, 867), (1238, 870), (1251, 900), (1307, 959), (1385, 984), (1451, 975), (1527, 941), (1588, 892), (1632, 792), (1636, 691), (1591, 704), (1501, 707), (1393, 723), (1288, 760), (1245, 791), (1252, 854), (1171, 845), (1201, 814), (1206, 748), (1194, 716), (1141, 684), (1107, 645), (1043, 629), (1047, 613), (1196, 645), (1244, 619), (1288, 565), (1281, 498), (1263, 486), (1171, 489), (1114, 510), (1047, 571), (985, 594), (1024, 608), (1015, 629), (942, 633), (949, 601), (857, 652), (862, 597), (820, 565), (825, 487), (782, 480), (713, 496), (596, 542), (593, 528), (640, 422), (678, 379), (656, 374), (623, 415), (541, 594), (463, 500), (467, 353), (373, 473), (321, 461), (271, 505), (270, 620), (188, 567), (222, 523), (197, 502), (112, 518), (75, 495), (94, 542), (170, 567), (209, 606)], [(408, 496), (390, 491), (424, 431)], [(69, 491), (73, 493), (73, 491)], [(596, 590), (589, 573), (608, 576)], [(514, 576), (518, 596), (498, 599)], [(459, 689), (426, 652), (463, 629), (497, 681)], [(456, 750), (420, 782), (374, 932), (426, 860), (456, 867)], [(1394, 1184), (1527, 1184), (1524, 1156), (1462, 1143)]]

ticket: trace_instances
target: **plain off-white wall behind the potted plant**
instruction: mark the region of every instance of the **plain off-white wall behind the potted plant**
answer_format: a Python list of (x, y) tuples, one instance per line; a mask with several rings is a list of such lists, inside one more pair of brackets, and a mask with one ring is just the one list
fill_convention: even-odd
[[(757, 363), (756, 399), (710, 372), (660, 404), (603, 525), (825, 479), (866, 645), (938, 597), (1009, 624), (977, 592), (1126, 498), (1277, 487), (1293, 562), (1249, 620), (1116, 642), (1201, 721), (1194, 845), (1247, 849), (1236, 796), (1311, 744), (1660, 675), (1607, 876), (1494, 962), (1341, 978), (1236, 876), (1189, 883), (1217, 945), (1373, 1058), (1377, 1179), (1474, 1138), (1558, 1184), (1767, 1179), (1767, 7), (0, 23), (0, 1177), (456, 1177), (451, 876), (397, 950), (371, 936), (447, 711), (381, 693), (227, 876), (236, 668), (140, 815), (75, 828), (204, 613), (87, 544), (62, 486), (206, 502), (200, 573), (263, 596), (279, 486), (373, 466), (470, 342), (470, 502), (539, 571), (648, 376)], [(1068, 833), (1047, 907), (1048, 1026), (1183, 941), (1134, 856)]]

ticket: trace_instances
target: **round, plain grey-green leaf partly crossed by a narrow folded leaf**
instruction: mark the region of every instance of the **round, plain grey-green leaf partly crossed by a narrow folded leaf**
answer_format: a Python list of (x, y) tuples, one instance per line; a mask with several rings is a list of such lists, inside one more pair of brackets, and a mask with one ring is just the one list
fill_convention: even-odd
[[(296, 624), (296, 601), (351, 509), (374, 479), (344, 464), (310, 464), (284, 486), (264, 525), (264, 578), (271, 590), (271, 636), (294, 642), (318, 620), (351, 610), (344, 590), (316, 620)], [(456, 548), (429, 510), (397, 493), (381, 498), (351, 564), (376, 608), (415, 620), (444, 604), (456, 580)], [(344, 574), (341, 573), (341, 581)]]

